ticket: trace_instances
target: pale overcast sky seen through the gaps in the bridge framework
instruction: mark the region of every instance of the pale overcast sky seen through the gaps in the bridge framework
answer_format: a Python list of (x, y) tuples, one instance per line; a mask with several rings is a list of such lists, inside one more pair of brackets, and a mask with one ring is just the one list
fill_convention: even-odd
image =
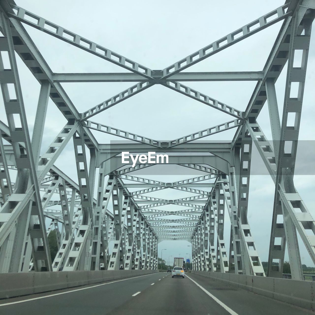
[[(273, 9), (281, 6), (284, 0), (253, 1), (53, 1), (16, 0), (17, 5), (50, 20), (70, 31), (88, 38), (118, 54), (145, 65), (153, 70), (163, 69), (187, 55), (197, 51), (242, 27)], [(185, 71), (261, 71), (269, 55), (270, 49), (282, 25), (282, 21), (267, 29), (215, 54)], [(39, 51), (46, 59), (53, 72), (127, 72), (106, 60), (62, 42), (31, 26), (25, 26)], [(31, 75), (18, 57), (19, 75), (22, 85), (27, 121), (32, 130), (36, 105), (39, 94), (39, 83)], [(312, 154), (304, 157), (305, 152), (314, 152), (314, 84), (315, 71), (315, 39), (311, 38), (304, 92), (303, 110), (299, 139), (311, 140), (304, 142), (302, 153), (298, 154), (296, 166), (300, 175), (295, 175), (295, 186), (305, 201), (310, 212), (315, 215), (313, 200), (314, 171), (309, 171), (312, 165)], [(286, 66), (277, 83), (277, 97), (280, 119), (282, 118), (284, 102), (284, 86)], [(71, 98), (79, 112), (112, 97), (135, 83), (62, 83), (66, 93)], [(209, 95), (227, 105), (239, 110), (245, 110), (254, 90), (255, 81), (243, 82), (189, 82), (184, 83)], [(1, 119), (3, 106), (0, 111)], [(232, 120), (232, 116), (210, 108), (198, 101), (176, 93), (161, 85), (146, 89), (110, 109), (91, 118), (92, 121), (127, 130), (139, 135), (157, 140), (173, 140), (219, 123)], [(65, 125), (66, 119), (49, 100), (46, 118), (42, 153)], [(258, 123), (269, 140), (271, 137), (267, 103), (263, 107)], [(204, 140), (231, 141), (236, 129), (203, 138)], [(99, 143), (109, 143), (117, 140), (114, 136), (92, 130)], [(121, 140), (119, 138), (118, 140)], [(301, 145), (299, 145), (301, 146)], [(262, 261), (268, 259), (274, 184), (264, 169), (258, 153), (253, 148), (251, 168), (255, 171), (250, 179), (248, 218), (256, 248)], [(72, 141), (55, 163), (62, 171), (77, 182), (76, 167)], [(155, 168), (155, 169), (154, 169)], [(187, 168), (167, 166), (163, 172), (181, 175), (158, 175), (158, 166), (150, 167), (147, 178), (170, 182), (182, 180), (202, 174)], [(149, 170), (148, 169), (148, 170)], [(176, 169), (176, 172), (174, 171)], [(150, 174), (148, 174), (150, 173)], [(131, 173), (133, 175), (136, 173)], [(138, 174), (138, 173), (137, 173)], [(265, 174), (265, 175), (261, 175)], [(303, 175), (301, 175), (303, 174)], [(145, 175), (143, 175), (145, 176)], [(135, 189), (138, 190), (138, 189)], [(206, 189), (204, 189), (206, 190)], [(130, 191), (133, 191), (130, 189)], [(150, 193), (147, 196), (175, 199), (188, 197), (191, 194), (166, 189)], [(176, 210), (184, 207), (166, 205), (159, 209)], [(226, 247), (230, 240), (230, 221), (225, 218)], [(215, 241), (216, 243), (216, 241)], [(302, 263), (313, 266), (312, 261), (300, 240)], [(159, 244), (158, 253), (163, 258), (169, 255), (187, 257), (191, 249), (185, 241), (164, 241)], [(287, 257), (287, 256), (286, 256)]]

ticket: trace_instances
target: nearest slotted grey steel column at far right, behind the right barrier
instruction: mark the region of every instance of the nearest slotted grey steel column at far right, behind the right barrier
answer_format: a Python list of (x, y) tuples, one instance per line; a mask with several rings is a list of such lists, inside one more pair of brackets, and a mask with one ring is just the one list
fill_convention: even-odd
[[(307, 17), (303, 19), (305, 12), (306, 10), (304, 8), (300, 8), (296, 15), (292, 18), (287, 80), (284, 95), (284, 108), (281, 130), (279, 130), (280, 121), (278, 117), (277, 116), (274, 117), (275, 115), (272, 115), (272, 113), (270, 113), (271, 123), (273, 123), (272, 119), (276, 120), (277, 122), (276, 125), (278, 126), (278, 128), (277, 130), (275, 130), (275, 136), (278, 137), (279, 135), (280, 141), (279, 146), (276, 146), (274, 149), (277, 165), (277, 175), (275, 182), (276, 188), (273, 207), (272, 233), (269, 250), (270, 256), (268, 261), (268, 275), (272, 274), (273, 276), (278, 277), (282, 276), (283, 256), (285, 251), (284, 242), (286, 240), (291, 267), (291, 275), (292, 279), (295, 280), (304, 279), (299, 244), (297, 239), (296, 228), (290, 216), (289, 209), (286, 207), (284, 202), (281, 201), (279, 185), (284, 187), (284, 191), (287, 195), (291, 194), (291, 196), (293, 196), (296, 194), (296, 190), (293, 184), (293, 175), (301, 121), (301, 110), (303, 104), (308, 50), (312, 28), (312, 20), (309, 20)], [(304, 35), (301, 35), (303, 30)], [(300, 59), (298, 56), (299, 51), (302, 52), (302, 56)], [(280, 134), (278, 134), (279, 131)], [(291, 197), (289, 201), (292, 205), (293, 204), (295, 205), (293, 208), (295, 209), (300, 208), (301, 212), (304, 212), (302, 210), (303, 206), (301, 206), (301, 198), (299, 196), (293, 198)], [(294, 215), (298, 217), (300, 214), (296, 214), (296, 212), (299, 211), (296, 210), (294, 211)], [(282, 231), (282, 234), (280, 236), (281, 237), (280, 244), (278, 244), (279, 241), (276, 240), (276, 238), (279, 239), (279, 235), (275, 233), (275, 230), (277, 228), (277, 220), (280, 219), (281, 214), (283, 216), (285, 238), (283, 235), (284, 233)], [(304, 224), (302, 222), (301, 223), (304, 226), (304, 228), (312, 230), (311, 221), (313, 221), (313, 218), (312, 217), (309, 219), (306, 218), (303, 221)], [(302, 235), (302, 238), (304, 235)], [(307, 237), (307, 239), (309, 239), (309, 237)], [(280, 251), (278, 251), (278, 253), (280, 255), (276, 256), (277, 249), (279, 247)], [(314, 249), (312, 250), (314, 251)], [(278, 270), (275, 270), (277, 267), (272, 266), (275, 261), (278, 262)]]

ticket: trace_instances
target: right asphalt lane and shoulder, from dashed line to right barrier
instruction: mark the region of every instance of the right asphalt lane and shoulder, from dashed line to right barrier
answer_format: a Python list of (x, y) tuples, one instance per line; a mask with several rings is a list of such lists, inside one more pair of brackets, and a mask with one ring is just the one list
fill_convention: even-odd
[(185, 279), (172, 278), (169, 274), (108, 314), (305, 315), (313, 312), (187, 273)]

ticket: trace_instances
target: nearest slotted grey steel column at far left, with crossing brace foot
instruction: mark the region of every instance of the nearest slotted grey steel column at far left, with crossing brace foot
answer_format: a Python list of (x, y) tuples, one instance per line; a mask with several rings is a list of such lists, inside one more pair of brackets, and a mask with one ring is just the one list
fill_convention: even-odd
[[(1, 230), (4, 235), (1, 235), (0, 231), (0, 244), (3, 244), (10, 232), (10, 229), (14, 227), (12, 221), (17, 219), (18, 226), (16, 228), (16, 233), (19, 235), (16, 234), (14, 238), (15, 241), (11, 256), (13, 262), (11, 266), (13, 269), (11, 271), (19, 271), (19, 263), (21, 256), (23, 255), (25, 245), (23, 240), (27, 238), (28, 235), (30, 235), (31, 238), (35, 270), (51, 271), (51, 260), (45, 228), (45, 219), (43, 209), (41, 207), (41, 198), (36, 175), (36, 163), (34, 161), (30, 135), (26, 122), (25, 108), (15, 60), (13, 38), (9, 20), (5, 18), (2, 13), (1, 24), (3, 27), (3, 33), (6, 37), (0, 37), (0, 74), (2, 73), (2, 77), (4, 77), (5, 74), (6, 81), (1, 80), (0, 84), (4, 100), (4, 108), (9, 123), (19, 181), (17, 183), (17, 187), (15, 187), (14, 193), (1, 209), (1, 213), (11, 213), (11, 220), (4, 222), (1, 226)], [(2, 56), (5, 54), (8, 56), (9, 65), (4, 65)], [(7, 68), (4, 68), (5, 66)], [(20, 143), (24, 144), (24, 147), (20, 146)], [(33, 194), (35, 198), (30, 202)], [(21, 214), (21, 212), (24, 213)], [(23, 216), (24, 218), (22, 220)], [(29, 230), (27, 230), (29, 224), (30, 227)]]

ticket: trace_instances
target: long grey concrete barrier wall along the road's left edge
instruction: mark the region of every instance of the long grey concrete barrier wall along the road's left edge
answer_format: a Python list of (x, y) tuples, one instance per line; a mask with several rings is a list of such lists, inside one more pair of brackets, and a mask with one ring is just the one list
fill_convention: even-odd
[(0, 273), (0, 299), (143, 276), (157, 270)]

